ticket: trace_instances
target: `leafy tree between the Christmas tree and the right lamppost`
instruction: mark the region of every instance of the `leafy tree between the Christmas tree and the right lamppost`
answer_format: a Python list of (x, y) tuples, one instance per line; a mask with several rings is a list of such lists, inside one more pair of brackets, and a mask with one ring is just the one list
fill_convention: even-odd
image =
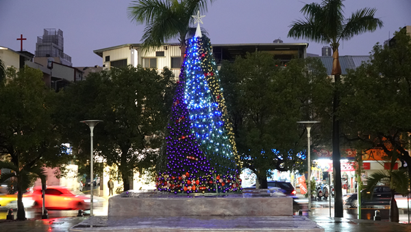
[(306, 136), (296, 128), (330, 90), (321, 62), (296, 59), (284, 68), (268, 53), (247, 53), (223, 63), (219, 74), (243, 167), (257, 175), (261, 188), (270, 170), (306, 170), (298, 154)]

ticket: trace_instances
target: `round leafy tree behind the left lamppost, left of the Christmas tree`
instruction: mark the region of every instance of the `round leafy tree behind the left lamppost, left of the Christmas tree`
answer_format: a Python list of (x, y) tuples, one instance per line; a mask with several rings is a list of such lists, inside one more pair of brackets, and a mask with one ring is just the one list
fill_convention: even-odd
[(93, 131), (94, 154), (118, 167), (123, 190), (129, 190), (134, 171), (142, 173), (155, 164), (173, 88), (169, 69), (158, 75), (141, 66), (92, 73), (66, 88), (58, 118), (79, 165), (90, 159), (90, 129), (79, 121), (103, 120)]

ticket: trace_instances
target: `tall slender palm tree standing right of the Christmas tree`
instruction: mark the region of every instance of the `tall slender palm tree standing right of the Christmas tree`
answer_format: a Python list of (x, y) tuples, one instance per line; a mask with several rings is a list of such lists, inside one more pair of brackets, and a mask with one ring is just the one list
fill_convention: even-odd
[(336, 190), (334, 215), (343, 218), (343, 192), (341, 190), (340, 168), (340, 122), (336, 116), (339, 107), (339, 91), (341, 67), (338, 61), (340, 41), (349, 40), (353, 36), (366, 31), (375, 31), (383, 23), (375, 18), (374, 8), (364, 8), (351, 14), (350, 18), (343, 15), (344, 0), (323, 0), (321, 3), (306, 4), (302, 9), (304, 20), (293, 21), (288, 31), (288, 37), (303, 38), (314, 42), (329, 44), (333, 51), (332, 75), (334, 75), (334, 99), (332, 115), (332, 159), (334, 172), (334, 188)]

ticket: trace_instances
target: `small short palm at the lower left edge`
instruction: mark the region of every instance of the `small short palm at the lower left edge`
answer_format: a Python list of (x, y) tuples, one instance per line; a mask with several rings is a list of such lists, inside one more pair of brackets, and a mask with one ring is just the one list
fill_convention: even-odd
[(0, 169), (7, 168), (12, 172), (3, 172), (0, 176), (0, 183), (10, 179), (9, 192), (14, 194), (17, 192), (17, 220), (25, 220), (25, 210), (23, 205), (23, 193), (32, 184), (32, 175), (41, 179), (41, 183), (46, 183), (47, 175), (45, 168), (41, 166), (26, 165), (23, 168), (18, 168), (13, 162), (0, 161)]

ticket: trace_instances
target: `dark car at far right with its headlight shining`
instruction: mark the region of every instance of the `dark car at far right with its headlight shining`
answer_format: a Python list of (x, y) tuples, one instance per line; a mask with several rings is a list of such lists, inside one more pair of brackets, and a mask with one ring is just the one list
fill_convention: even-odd
[[(361, 191), (361, 205), (390, 205), (391, 190), (389, 186), (375, 186), (371, 197), (370, 194), (371, 192)], [(358, 207), (357, 193), (345, 194), (343, 196), (343, 203), (351, 207)]]

